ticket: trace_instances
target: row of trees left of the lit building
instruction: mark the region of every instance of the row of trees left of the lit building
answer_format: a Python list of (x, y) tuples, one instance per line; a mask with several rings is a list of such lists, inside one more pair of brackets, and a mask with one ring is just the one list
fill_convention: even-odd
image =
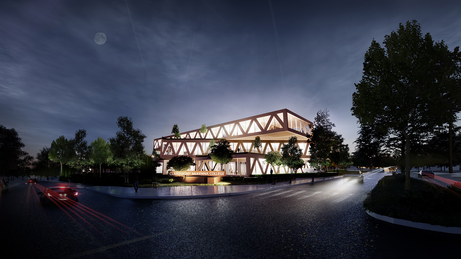
[[(155, 167), (160, 164), (151, 161), (151, 155), (144, 153), (144, 139), (146, 135), (141, 130), (133, 128), (131, 118), (120, 116), (117, 120), (119, 130), (115, 137), (109, 141), (98, 137), (95, 141), (88, 144), (85, 140), (86, 130), (76, 130), (74, 138), (66, 139), (64, 135), (53, 140), (51, 147), (44, 147), (37, 153), (35, 170), (43, 171), (47, 168), (51, 170), (53, 166), (59, 166), (59, 175), (63, 176), (63, 165), (79, 170), (81, 173), (85, 169), (92, 168), (102, 174), (102, 168), (111, 168), (116, 172), (124, 173), (124, 182), (128, 183), (128, 173), (146, 169), (146, 164), (155, 171)], [(156, 152), (153, 155), (158, 159)], [(155, 160), (157, 160), (155, 159)], [(51, 163), (50, 163), (51, 161)]]

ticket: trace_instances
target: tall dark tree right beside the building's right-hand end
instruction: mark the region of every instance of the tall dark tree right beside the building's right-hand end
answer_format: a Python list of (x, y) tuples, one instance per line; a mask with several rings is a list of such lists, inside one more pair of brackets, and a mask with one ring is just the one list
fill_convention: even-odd
[[(326, 167), (331, 165), (330, 153), (335, 142), (335, 136), (337, 135), (332, 129), (335, 124), (330, 122), (328, 118), (328, 110), (317, 112), (317, 116), (314, 118), (314, 128), (311, 130), (312, 135), (307, 137), (310, 139), (309, 147), (309, 163), (314, 167)], [(310, 126), (311, 128), (313, 126)]]

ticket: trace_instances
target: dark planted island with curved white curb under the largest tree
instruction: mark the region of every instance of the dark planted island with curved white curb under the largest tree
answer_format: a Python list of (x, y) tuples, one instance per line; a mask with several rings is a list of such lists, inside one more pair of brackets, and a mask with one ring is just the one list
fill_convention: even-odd
[(461, 195), (419, 179), (404, 189), (404, 175), (385, 176), (363, 201), (366, 210), (413, 222), (461, 227)]

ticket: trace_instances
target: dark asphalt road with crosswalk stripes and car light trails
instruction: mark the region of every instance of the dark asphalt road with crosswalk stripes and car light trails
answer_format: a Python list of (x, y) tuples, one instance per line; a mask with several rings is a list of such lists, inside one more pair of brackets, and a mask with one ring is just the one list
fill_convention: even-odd
[(384, 175), (178, 200), (80, 189), (67, 208), (39, 203), (36, 192), (51, 183), (15, 181), (0, 196), (2, 250), (14, 258), (457, 258), (460, 235), (364, 212), (362, 201)]

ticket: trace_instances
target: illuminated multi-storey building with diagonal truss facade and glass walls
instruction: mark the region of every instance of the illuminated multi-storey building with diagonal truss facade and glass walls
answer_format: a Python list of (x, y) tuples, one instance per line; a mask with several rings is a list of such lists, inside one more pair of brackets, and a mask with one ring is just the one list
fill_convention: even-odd
[[(287, 109), (268, 112), (253, 117), (243, 118), (223, 124), (209, 126), (205, 135), (200, 129), (181, 133), (181, 138), (175, 139), (174, 135), (154, 140), (154, 149), (160, 154), (157, 173), (166, 174), (166, 162), (174, 156), (186, 155), (195, 160), (195, 166), (190, 170), (213, 171), (221, 170), (221, 165), (208, 159), (209, 143), (211, 139), (224, 138), (231, 143), (235, 155), (232, 162), (223, 165), (226, 175), (250, 176), (252, 174), (266, 174), (270, 166), (264, 164), (264, 154), (270, 151), (282, 151), (282, 146), (288, 143), (291, 136), (298, 138), (297, 145), (302, 150), (301, 159), (304, 168), (308, 167), (309, 143), (307, 133), (310, 133), (309, 124), (312, 122)], [(201, 125), (198, 123), (198, 125)], [(254, 148), (254, 138), (259, 136), (262, 147)], [(299, 169), (298, 172), (304, 170)], [(288, 167), (273, 167), (274, 173), (289, 173)]]

